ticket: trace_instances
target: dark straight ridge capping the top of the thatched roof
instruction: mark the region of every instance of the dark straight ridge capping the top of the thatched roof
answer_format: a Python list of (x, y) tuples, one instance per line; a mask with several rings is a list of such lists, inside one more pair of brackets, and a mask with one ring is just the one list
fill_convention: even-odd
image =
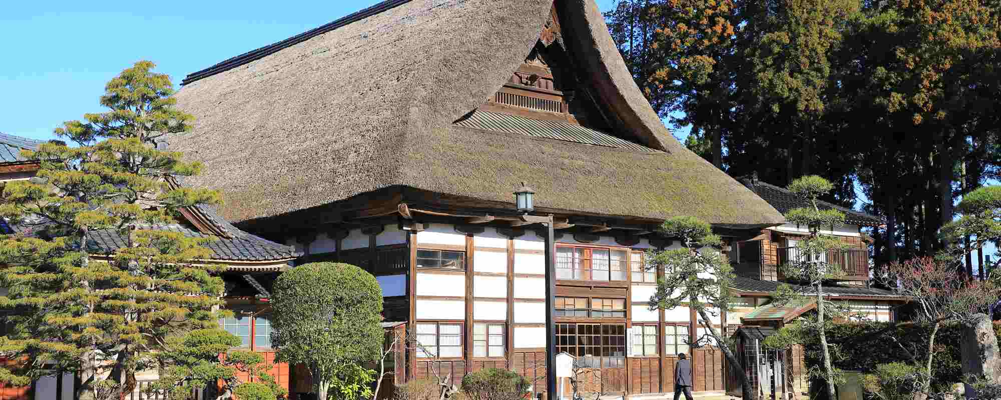
[(202, 78), (207, 78), (209, 76), (218, 74), (220, 72), (228, 71), (230, 69), (239, 67), (241, 65), (250, 63), (252, 61), (259, 60), (286, 47), (294, 46), (296, 44), (309, 40), (313, 37), (322, 35), (324, 33), (330, 32), (334, 29), (351, 24), (353, 22), (370, 17), (372, 15), (379, 14), (383, 11), (409, 3), (410, 1), (411, 0), (384, 0), (368, 8), (355, 11), (343, 17), (337, 18), (332, 22), (328, 22), (319, 27), (302, 32), (298, 35), (292, 36), (282, 41), (274, 42), (254, 50), (250, 50), (246, 53), (240, 54), (235, 57), (230, 57), (226, 60), (216, 63), (215, 65), (212, 65), (211, 67), (188, 74), (187, 76), (184, 77), (184, 80), (181, 81), (181, 86), (187, 85), (191, 82), (197, 81)]

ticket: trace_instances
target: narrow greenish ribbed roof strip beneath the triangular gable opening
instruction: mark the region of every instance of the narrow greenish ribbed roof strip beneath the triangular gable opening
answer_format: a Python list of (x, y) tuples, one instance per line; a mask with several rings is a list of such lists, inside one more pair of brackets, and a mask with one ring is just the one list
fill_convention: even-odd
[(490, 111), (475, 111), (468, 117), (456, 121), (455, 125), (465, 128), (563, 140), (565, 142), (661, 153), (660, 150), (654, 150), (647, 146), (581, 125), (558, 121), (544, 121)]

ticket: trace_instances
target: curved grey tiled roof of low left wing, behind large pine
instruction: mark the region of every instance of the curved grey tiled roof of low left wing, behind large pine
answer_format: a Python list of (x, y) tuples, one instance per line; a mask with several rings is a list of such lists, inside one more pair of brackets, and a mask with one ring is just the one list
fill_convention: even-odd
[[(230, 237), (207, 235), (179, 224), (140, 225), (139, 229), (180, 232), (188, 237), (213, 239), (204, 246), (212, 250), (212, 259), (217, 261), (282, 261), (301, 255), (292, 247), (281, 245), (237, 229), (218, 217), (214, 207), (203, 205), (198, 207), (209, 216), (212, 223), (224, 227)], [(17, 227), (12, 229), (6, 221), (0, 219), (0, 233), (11, 234), (15, 230), (20, 229)], [(112, 254), (115, 250), (125, 247), (127, 239), (117, 230), (103, 229), (91, 231), (87, 234), (88, 251), (92, 254)], [(277, 271), (275, 268), (270, 269)], [(237, 270), (261, 271), (258, 267), (239, 267)]]

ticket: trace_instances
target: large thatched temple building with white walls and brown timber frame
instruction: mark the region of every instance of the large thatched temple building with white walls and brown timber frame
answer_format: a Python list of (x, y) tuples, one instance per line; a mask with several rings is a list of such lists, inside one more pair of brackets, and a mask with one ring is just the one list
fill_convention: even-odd
[[(246, 348), (270, 352), (276, 274), (348, 262), (379, 281), (387, 329), (426, 350), (395, 354), (394, 383), (499, 367), (547, 392), (546, 233), (532, 217), (551, 215), (557, 350), (600, 370), (603, 393), (672, 392), (678, 353), (693, 360), (694, 391), (732, 381), (718, 347), (692, 345), (704, 333), (693, 310), (648, 307), (663, 271), (644, 254), (680, 246), (657, 233), (666, 218), (710, 222), (741, 265), (743, 297), (716, 313), (718, 329), (809, 312), (769, 304), (775, 265), (795, 247), (778, 207), (672, 136), (594, 0), (388, 0), (192, 73), (175, 97), (196, 120), (170, 148), (205, 164), (185, 184), (226, 204), (193, 210), (186, 229), (274, 251), (219, 260), (233, 263), (237, 311), (220, 324)], [(528, 214), (513, 195), (524, 185)], [(857, 227), (850, 237), (863, 239)], [(832, 287), (873, 319), (901, 301)], [(304, 369), (275, 373), (291, 398), (309, 390)]]

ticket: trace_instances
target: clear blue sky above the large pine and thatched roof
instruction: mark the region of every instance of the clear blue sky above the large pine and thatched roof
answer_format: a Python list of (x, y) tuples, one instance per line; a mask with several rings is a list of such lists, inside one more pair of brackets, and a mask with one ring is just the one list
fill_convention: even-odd
[[(315, 28), (378, 0), (18, 1), (0, 13), (0, 132), (52, 137), (105, 111), (104, 84), (138, 60), (184, 75)], [(598, 0), (603, 10), (614, 0)]]

